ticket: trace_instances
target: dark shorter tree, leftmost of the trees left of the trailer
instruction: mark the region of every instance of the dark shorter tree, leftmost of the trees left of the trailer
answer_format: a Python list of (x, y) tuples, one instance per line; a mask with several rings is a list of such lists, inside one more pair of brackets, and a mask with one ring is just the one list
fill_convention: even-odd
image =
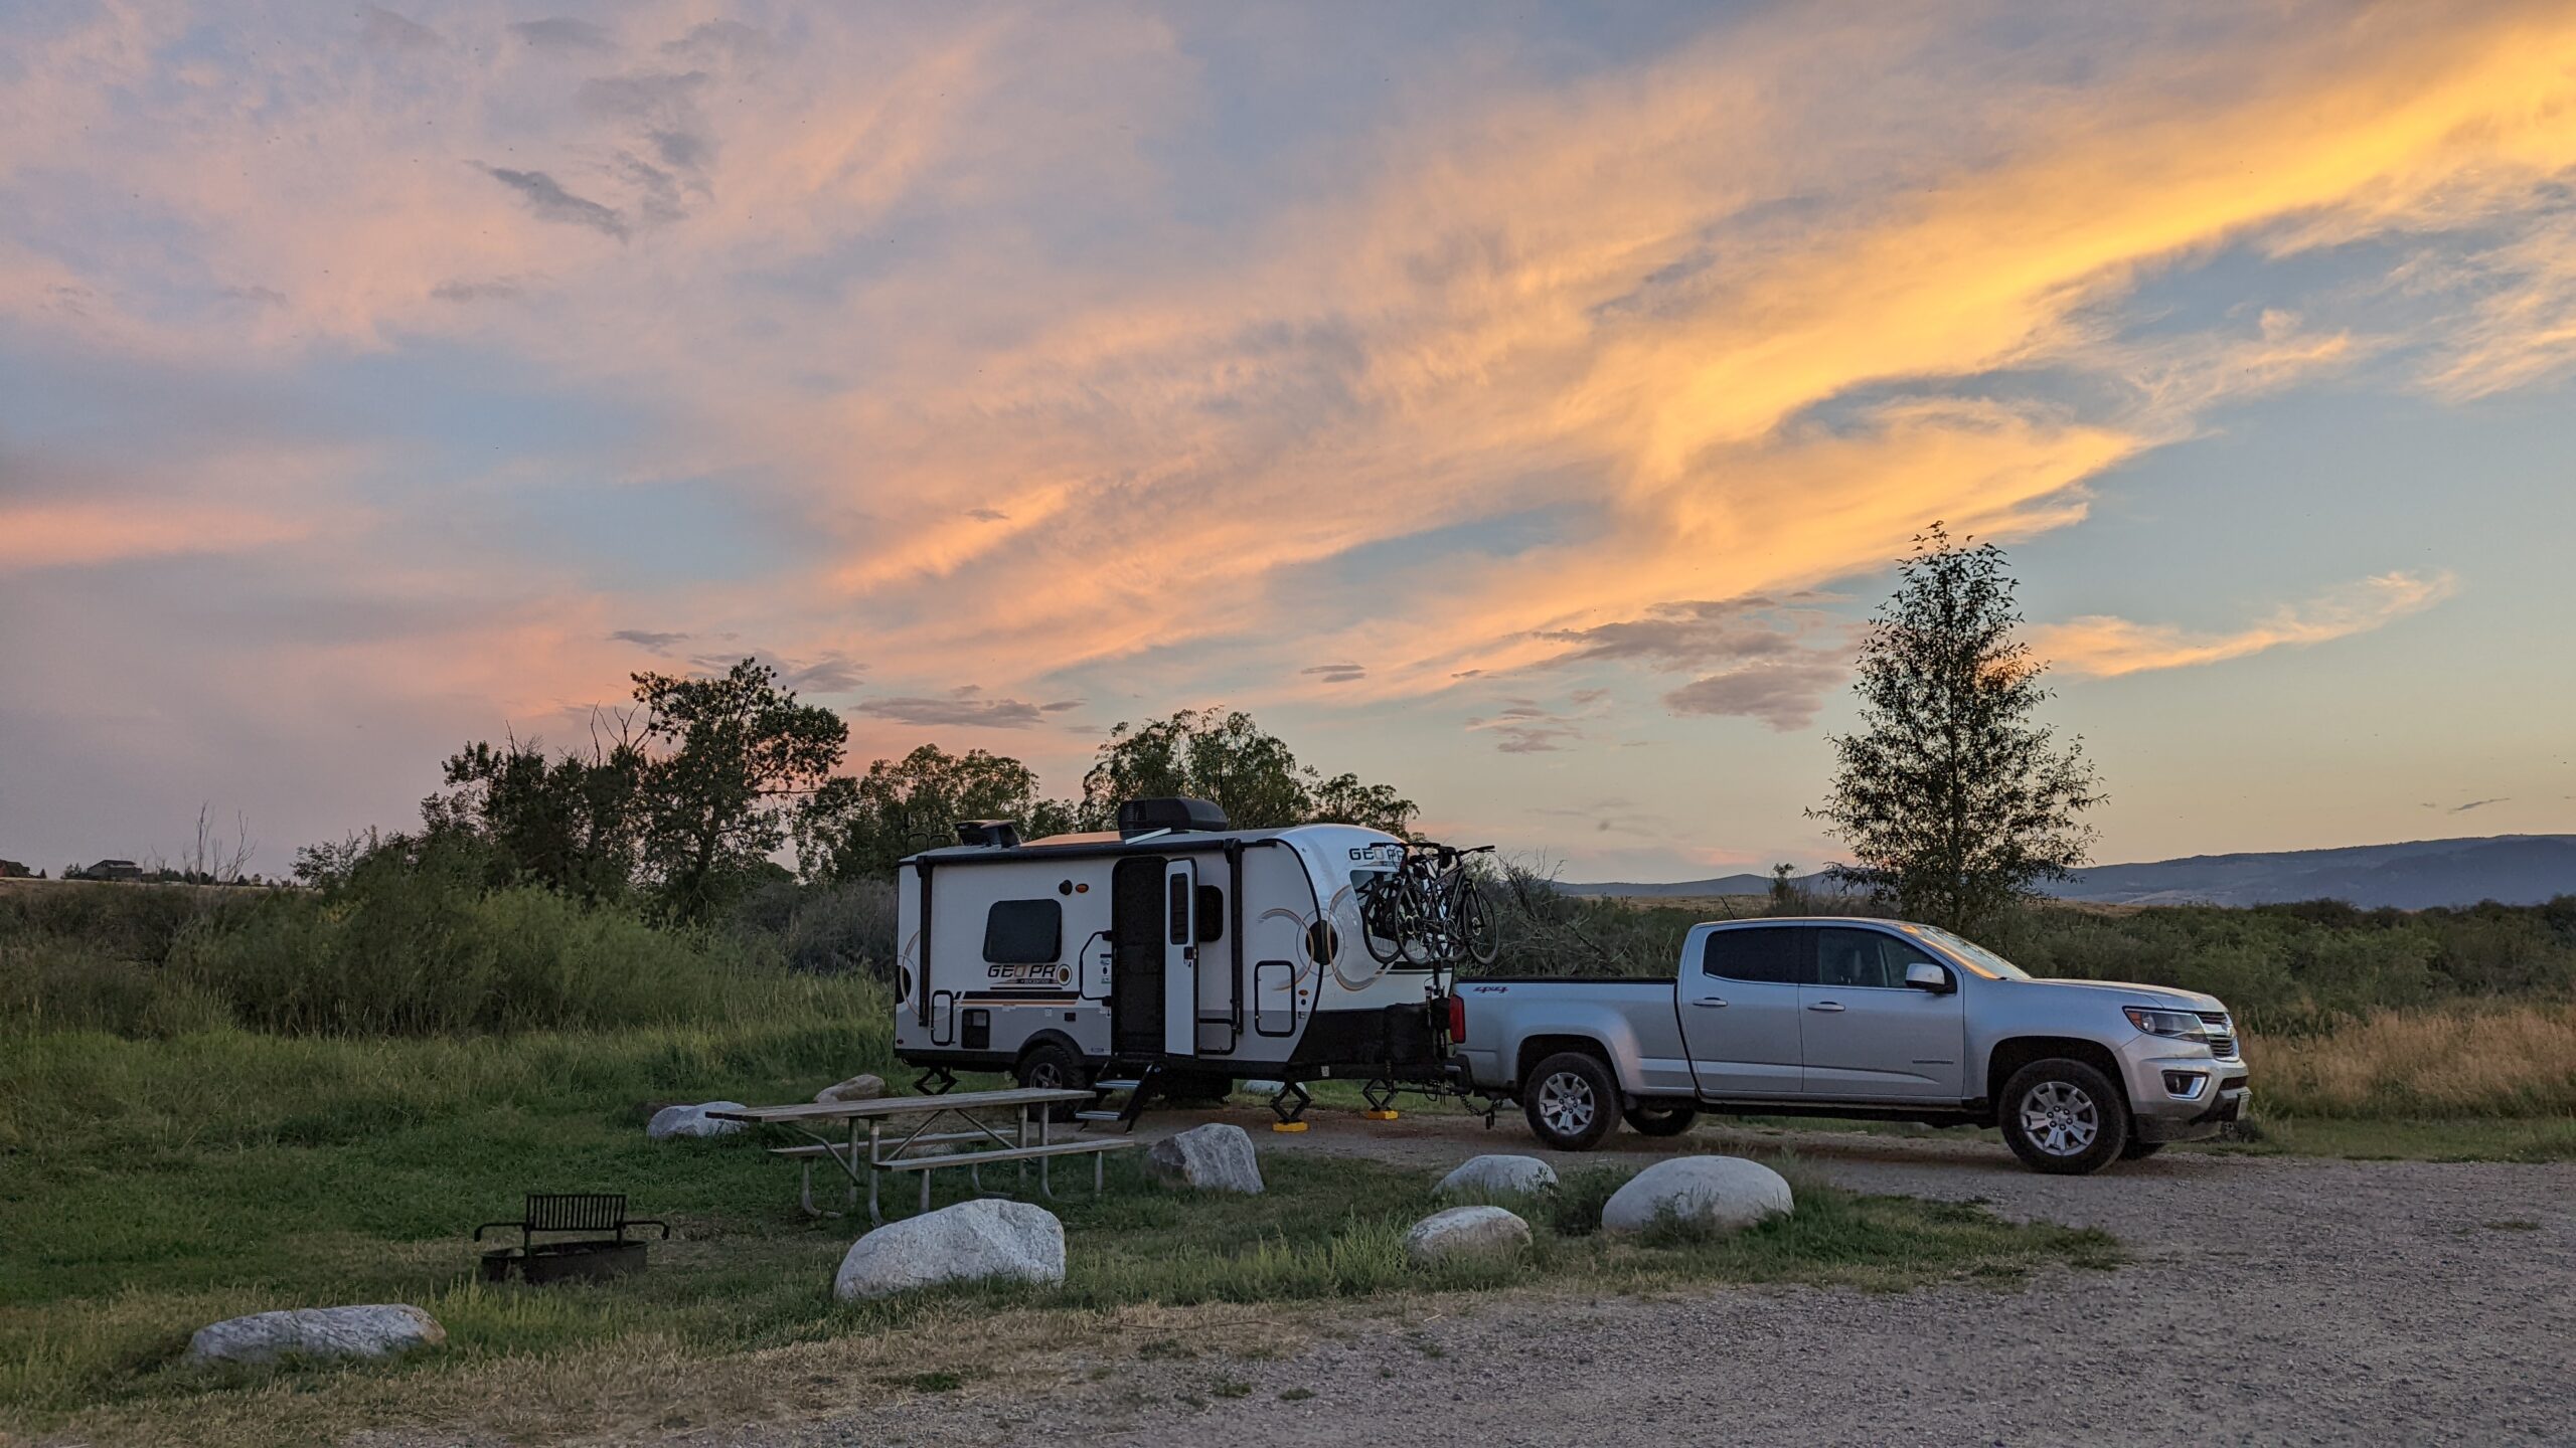
[(536, 739), (474, 742), (448, 757), (451, 794), (420, 801), (430, 832), (492, 845), (500, 884), (544, 884), (577, 899), (623, 897), (644, 830), (644, 747), (629, 719), (592, 727), (590, 752), (554, 760)]

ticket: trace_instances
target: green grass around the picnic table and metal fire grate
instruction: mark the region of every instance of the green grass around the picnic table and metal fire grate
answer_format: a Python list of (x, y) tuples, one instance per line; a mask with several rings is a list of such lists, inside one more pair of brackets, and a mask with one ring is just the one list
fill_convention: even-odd
[[(858, 1224), (806, 1221), (793, 1208), (793, 1167), (765, 1157), (765, 1141), (649, 1144), (641, 1131), (657, 1103), (801, 1100), (884, 1064), (884, 1002), (866, 987), (806, 984), (819, 995), (775, 1025), (711, 1031), (8, 1041), (0, 1425), (270, 1443), (368, 1422), (479, 1422), (500, 1412), (495, 1384), (513, 1381), (541, 1384), (538, 1396), (580, 1417), (582, 1394), (611, 1391), (603, 1384), (629, 1363), (659, 1363), (665, 1373), (657, 1389), (634, 1391), (672, 1391), (667, 1373), (848, 1342), (904, 1350), (871, 1378), (881, 1391), (956, 1391), (992, 1371), (969, 1340), (1012, 1322), (1139, 1304), (1270, 1309), (1502, 1286), (1664, 1291), (1692, 1281), (1891, 1291), (2115, 1260), (2112, 1242), (2094, 1232), (1806, 1183), (1798, 1214), (1718, 1242), (1649, 1247), (1561, 1234), (1548, 1226), (1564, 1221), (1564, 1208), (1533, 1206), (1540, 1239), (1525, 1262), (1422, 1270), (1406, 1262), (1401, 1237), (1437, 1206), (1437, 1172), (1267, 1152), (1267, 1193), (1200, 1198), (1151, 1183), (1139, 1154), (1118, 1154), (1100, 1198), (1087, 1170), (1059, 1175), (1056, 1211), (1072, 1247), (1061, 1286), (835, 1304), (832, 1268)], [(940, 1172), (935, 1185), (935, 1201), (966, 1190), (956, 1172)], [(1613, 1175), (1587, 1175), (1569, 1183), (1564, 1201), (1592, 1203), (1610, 1185)], [(623, 1190), (639, 1216), (670, 1219), (677, 1239), (654, 1244), (649, 1273), (616, 1283), (484, 1286), (471, 1275), (466, 1229), (515, 1216), (523, 1190)], [(415, 1301), (446, 1324), (448, 1348), (371, 1368), (178, 1366), (188, 1332), (206, 1322), (348, 1301)], [(1074, 1332), (1082, 1337), (1092, 1332)], [(956, 1348), (940, 1358), (925, 1342)], [(1193, 1350), (1193, 1340), (1170, 1342), (1175, 1355)], [(796, 1396), (762, 1386), (755, 1402), (773, 1391)]]

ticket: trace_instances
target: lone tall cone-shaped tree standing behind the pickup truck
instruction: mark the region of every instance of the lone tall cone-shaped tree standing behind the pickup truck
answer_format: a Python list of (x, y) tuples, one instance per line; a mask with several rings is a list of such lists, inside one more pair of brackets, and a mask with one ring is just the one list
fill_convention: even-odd
[(1860, 732), (1832, 739), (1834, 794), (1808, 814), (1852, 848), (1842, 884), (1976, 930), (2087, 861), (2076, 817), (2102, 794), (2084, 742), (2032, 721), (2045, 665), (2012, 636), (2004, 551), (1932, 523), (1899, 572), (1860, 647)]

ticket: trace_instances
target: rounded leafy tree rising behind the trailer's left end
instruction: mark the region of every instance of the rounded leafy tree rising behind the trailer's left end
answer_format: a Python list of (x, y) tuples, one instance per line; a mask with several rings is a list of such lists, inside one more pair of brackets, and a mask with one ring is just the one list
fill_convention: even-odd
[(951, 755), (922, 745), (868, 773), (824, 781), (796, 812), (796, 861), (806, 879), (886, 879), (896, 861), (953, 845), (958, 819), (1010, 819), (1023, 837), (1074, 827), (1074, 806), (1038, 794), (1038, 773), (1007, 755)]

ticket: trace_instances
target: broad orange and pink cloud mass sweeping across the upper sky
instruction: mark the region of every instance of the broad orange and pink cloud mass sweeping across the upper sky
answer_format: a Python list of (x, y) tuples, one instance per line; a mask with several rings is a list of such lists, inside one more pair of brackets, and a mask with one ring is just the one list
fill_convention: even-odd
[[(1785, 13), (1571, 82), (1427, 82), (1216, 219), (1154, 147), (1221, 80), (1151, 15), (788, 46), (634, 8), (623, 59), (420, 23), (448, 44), (343, 26), (214, 82), (160, 75), (183, 21), (33, 49), (0, 214), (113, 173), (204, 276), (160, 234), (0, 234), (0, 312), (224, 366), (438, 338), (634, 399), (649, 469), (744, 477), (811, 549), (690, 603), (922, 698), (966, 667), (1188, 688), (1151, 672), (1188, 644), (1273, 693), (1432, 693), (1875, 569), (1929, 518), (2063, 528), (2221, 402), (2388, 345), (2287, 309), (2128, 340), (2143, 283), (2527, 219), (2576, 167), (2576, 15), (2543, 5), (2231, 8), (2081, 88), (1942, 15)], [(2527, 286), (2452, 322), (2442, 392), (2553, 374), (2566, 255), (2494, 250)], [(1515, 523), (1540, 541), (1489, 546)]]

